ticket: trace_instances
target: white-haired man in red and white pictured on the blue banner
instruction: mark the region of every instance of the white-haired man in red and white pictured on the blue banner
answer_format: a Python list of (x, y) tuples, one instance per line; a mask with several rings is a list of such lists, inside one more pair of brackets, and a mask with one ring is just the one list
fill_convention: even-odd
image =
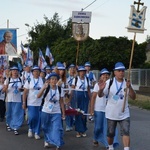
[(0, 42), (0, 55), (8, 54), (9, 56), (14, 56), (17, 54), (16, 47), (11, 43), (13, 34), (10, 31), (4, 33), (4, 39)]

